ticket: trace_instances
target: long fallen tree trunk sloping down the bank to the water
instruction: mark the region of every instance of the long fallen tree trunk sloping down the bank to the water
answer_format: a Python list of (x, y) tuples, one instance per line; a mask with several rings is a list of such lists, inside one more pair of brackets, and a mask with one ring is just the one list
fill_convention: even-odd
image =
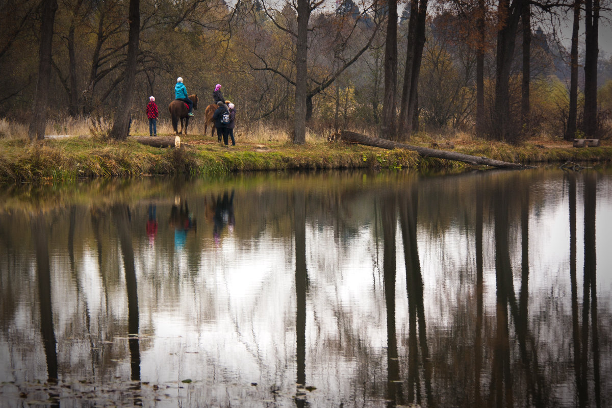
[(414, 150), (423, 157), (438, 157), (446, 160), (457, 160), (471, 165), (487, 165), (507, 169), (530, 169), (531, 166), (519, 163), (509, 163), (507, 161), (493, 160), (487, 157), (472, 156), (469, 154), (448, 152), (447, 150), (430, 149), (428, 147), (411, 146), (409, 144), (398, 143), (386, 139), (372, 138), (360, 133), (343, 130), (341, 139), (349, 143), (365, 144), (366, 146), (381, 147), (383, 149), (408, 149)]

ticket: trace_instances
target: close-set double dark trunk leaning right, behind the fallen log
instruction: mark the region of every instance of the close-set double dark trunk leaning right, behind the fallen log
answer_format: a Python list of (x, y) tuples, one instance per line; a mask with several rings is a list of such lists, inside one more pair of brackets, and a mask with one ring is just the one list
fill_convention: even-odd
[(419, 75), (425, 46), (427, 0), (413, 0), (408, 21), (408, 49), (401, 90), (400, 132), (406, 138), (419, 126)]

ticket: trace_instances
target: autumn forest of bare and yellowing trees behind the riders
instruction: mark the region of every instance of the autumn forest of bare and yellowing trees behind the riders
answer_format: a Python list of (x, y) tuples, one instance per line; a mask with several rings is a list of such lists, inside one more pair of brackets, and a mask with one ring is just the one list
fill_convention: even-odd
[(201, 108), (220, 83), (242, 127), (294, 143), (342, 128), (609, 138), (600, 1), (1, 0), (0, 137), (86, 121), (125, 138), (150, 95), (169, 120), (182, 76)]

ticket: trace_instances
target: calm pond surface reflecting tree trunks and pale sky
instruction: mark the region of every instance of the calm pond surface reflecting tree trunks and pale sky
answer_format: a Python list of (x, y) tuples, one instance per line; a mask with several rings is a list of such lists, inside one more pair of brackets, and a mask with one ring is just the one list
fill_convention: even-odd
[(0, 406), (612, 405), (612, 172), (0, 194)]

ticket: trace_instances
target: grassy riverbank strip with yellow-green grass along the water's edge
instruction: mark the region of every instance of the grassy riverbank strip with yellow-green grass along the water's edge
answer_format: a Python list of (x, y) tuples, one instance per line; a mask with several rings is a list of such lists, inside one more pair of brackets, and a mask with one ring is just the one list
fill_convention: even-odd
[[(413, 139), (416, 146), (430, 141)], [(489, 141), (453, 141), (453, 151), (522, 164), (565, 161), (610, 161), (612, 146), (575, 148), (564, 141), (530, 141), (522, 146)], [(181, 149), (145, 146), (128, 138), (108, 142), (91, 136), (45, 139), (0, 139), (0, 182), (69, 181), (81, 177), (132, 177), (153, 174), (215, 175), (237, 171), (343, 168), (463, 168), (466, 163), (420, 157), (416, 152), (318, 141), (244, 142), (223, 146), (210, 136), (182, 137)]]

